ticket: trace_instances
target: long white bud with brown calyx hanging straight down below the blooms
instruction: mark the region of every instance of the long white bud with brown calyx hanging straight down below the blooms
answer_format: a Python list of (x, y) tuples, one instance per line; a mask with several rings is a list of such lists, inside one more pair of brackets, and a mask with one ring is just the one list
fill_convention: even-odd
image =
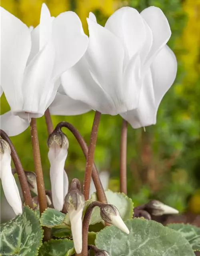
[(68, 192), (68, 176), (64, 170), (68, 154), (68, 138), (62, 131), (54, 130), (48, 138), (48, 159), (50, 162), (50, 180), (54, 208), (62, 210), (64, 198)]

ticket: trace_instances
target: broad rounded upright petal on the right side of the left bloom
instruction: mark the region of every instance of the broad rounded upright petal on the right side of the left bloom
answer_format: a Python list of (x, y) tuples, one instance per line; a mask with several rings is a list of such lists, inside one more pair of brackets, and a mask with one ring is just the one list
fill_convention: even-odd
[(88, 36), (84, 34), (82, 24), (75, 12), (63, 12), (58, 15), (53, 25), (53, 41), (56, 59), (53, 79), (76, 64), (88, 47)]

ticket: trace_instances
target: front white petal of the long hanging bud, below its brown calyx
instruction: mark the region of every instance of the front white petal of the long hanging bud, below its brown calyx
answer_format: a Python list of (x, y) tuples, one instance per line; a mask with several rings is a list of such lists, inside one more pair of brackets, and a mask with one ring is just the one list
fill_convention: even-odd
[[(48, 159), (50, 162), (50, 180), (52, 201), (54, 208), (62, 210), (64, 204), (64, 164), (67, 158), (67, 148), (60, 148), (54, 144), (49, 148)], [(65, 180), (66, 181), (66, 180)]]

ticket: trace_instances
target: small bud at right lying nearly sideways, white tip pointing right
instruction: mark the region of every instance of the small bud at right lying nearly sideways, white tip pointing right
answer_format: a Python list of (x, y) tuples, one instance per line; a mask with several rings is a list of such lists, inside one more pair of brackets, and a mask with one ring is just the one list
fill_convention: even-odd
[(158, 200), (151, 200), (148, 202), (148, 204), (145, 205), (144, 208), (146, 211), (148, 211), (150, 214), (154, 216), (161, 216), (163, 214), (178, 214), (178, 210), (163, 204), (162, 202)]

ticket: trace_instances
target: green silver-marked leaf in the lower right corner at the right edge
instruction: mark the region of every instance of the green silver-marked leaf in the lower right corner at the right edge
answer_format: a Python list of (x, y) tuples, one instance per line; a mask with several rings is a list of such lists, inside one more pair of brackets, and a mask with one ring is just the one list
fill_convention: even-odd
[(200, 250), (200, 228), (184, 223), (168, 224), (168, 228), (176, 230), (186, 238), (194, 251)]

